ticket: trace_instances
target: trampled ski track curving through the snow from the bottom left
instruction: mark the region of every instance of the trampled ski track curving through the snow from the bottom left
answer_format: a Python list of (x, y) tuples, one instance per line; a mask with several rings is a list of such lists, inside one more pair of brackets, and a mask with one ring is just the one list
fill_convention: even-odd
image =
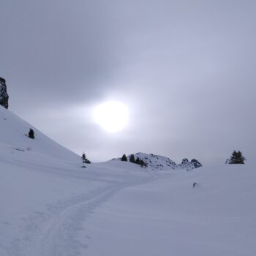
[[(143, 177), (129, 176), (129, 181), (108, 182), (105, 187), (47, 205), (46, 211), (35, 211), (31, 216), (21, 218), (20, 233), (23, 235), (12, 241), (7, 255), (75, 256), (81, 255), (82, 250), (84, 255), (91, 239), (83, 228), (86, 219), (121, 189), (158, 178), (157, 173), (147, 173)], [(78, 238), (79, 233), (82, 233), (83, 241)]]

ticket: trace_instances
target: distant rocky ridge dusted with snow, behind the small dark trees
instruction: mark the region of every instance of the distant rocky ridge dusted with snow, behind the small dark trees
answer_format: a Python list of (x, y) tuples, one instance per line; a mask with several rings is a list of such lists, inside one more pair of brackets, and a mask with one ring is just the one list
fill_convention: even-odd
[[(135, 159), (138, 157), (146, 162), (146, 165), (153, 170), (166, 170), (166, 169), (179, 169), (179, 170), (192, 170), (197, 167), (202, 167), (197, 159), (192, 159), (191, 162), (187, 158), (184, 158), (181, 164), (176, 165), (176, 163), (168, 157), (159, 156), (156, 154), (145, 154), (136, 153), (134, 154)], [(128, 161), (131, 155), (127, 157)], [(113, 161), (121, 161), (121, 158), (114, 158)]]

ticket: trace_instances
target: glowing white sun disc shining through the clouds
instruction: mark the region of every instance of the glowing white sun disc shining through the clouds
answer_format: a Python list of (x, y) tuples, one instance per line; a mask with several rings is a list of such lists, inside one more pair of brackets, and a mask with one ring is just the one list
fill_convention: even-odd
[(118, 132), (128, 123), (128, 108), (121, 102), (105, 102), (94, 108), (94, 121), (107, 132)]

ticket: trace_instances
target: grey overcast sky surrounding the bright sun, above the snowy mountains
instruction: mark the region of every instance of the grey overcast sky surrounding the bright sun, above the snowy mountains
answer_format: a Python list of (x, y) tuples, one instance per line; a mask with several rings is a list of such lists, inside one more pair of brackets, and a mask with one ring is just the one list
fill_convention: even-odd
[[(256, 1), (0, 0), (10, 110), (102, 161), (256, 156)], [(129, 107), (105, 132), (95, 105)], [(0, 127), (1, 129), (1, 127)]]

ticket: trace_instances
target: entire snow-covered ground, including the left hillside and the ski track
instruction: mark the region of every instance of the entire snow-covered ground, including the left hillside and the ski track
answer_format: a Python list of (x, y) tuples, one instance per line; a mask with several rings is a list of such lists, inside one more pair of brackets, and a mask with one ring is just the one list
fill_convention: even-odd
[(1, 256), (256, 254), (254, 165), (81, 168), (1, 107), (0, 131)]

